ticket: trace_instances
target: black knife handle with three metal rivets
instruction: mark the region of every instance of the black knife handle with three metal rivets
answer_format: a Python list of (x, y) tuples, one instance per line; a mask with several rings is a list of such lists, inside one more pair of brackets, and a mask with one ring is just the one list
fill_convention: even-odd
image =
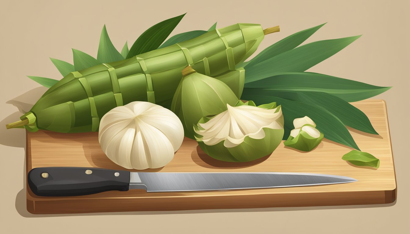
[(86, 167), (42, 167), (30, 170), (27, 182), (38, 196), (77, 196), (128, 191), (130, 172)]

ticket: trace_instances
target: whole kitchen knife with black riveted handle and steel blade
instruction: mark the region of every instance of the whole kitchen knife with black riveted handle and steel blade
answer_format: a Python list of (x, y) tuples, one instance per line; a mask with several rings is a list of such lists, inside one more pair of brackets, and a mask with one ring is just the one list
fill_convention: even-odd
[(27, 175), (30, 189), (38, 196), (76, 196), (129, 189), (144, 189), (147, 192), (262, 189), (355, 181), (346, 176), (312, 173), (129, 172), (84, 167), (34, 168)]

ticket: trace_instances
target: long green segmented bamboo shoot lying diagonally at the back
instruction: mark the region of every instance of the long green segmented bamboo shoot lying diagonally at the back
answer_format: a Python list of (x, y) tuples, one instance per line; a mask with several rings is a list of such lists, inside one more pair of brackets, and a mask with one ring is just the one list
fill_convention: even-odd
[[(21, 118), (30, 120), (25, 128), (32, 132), (98, 131), (100, 118), (117, 106), (148, 101), (170, 108), (181, 71), (188, 65), (198, 73), (221, 79), (240, 98), (244, 69), (235, 69), (235, 65), (256, 51), (264, 34), (278, 30), (235, 24), (130, 59), (72, 72), (48, 89)], [(9, 127), (21, 124), (18, 121)]]

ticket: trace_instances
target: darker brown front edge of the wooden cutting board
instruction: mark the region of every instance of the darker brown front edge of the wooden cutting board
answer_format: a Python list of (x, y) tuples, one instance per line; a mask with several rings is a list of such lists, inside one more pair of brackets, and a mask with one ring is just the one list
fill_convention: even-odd
[[(36, 200), (27, 191), (27, 211), (31, 214), (83, 214), (132, 211), (183, 211), (208, 209), (258, 209), (389, 204), (396, 200), (392, 191), (355, 191), (324, 193), (275, 193), (241, 196), (96, 198), (75, 200)], [(235, 199), (236, 198), (236, 199)], [(286, 199), (285, 199), (286, 198)], [(335, 202), (335, 199), (337, 202)], [(130, 202), (130, 200), (133, 200)], [(252, 204), (252, 200), (258, 200)], [(264, 200), (264, 202), (260, 202)], [(303, 201), (301, 201), (303, 200)], [(306, 202), (309, 201), (309, 202)], [(105, 202), (107, 201), (107, 202)], [(109, 201), (109, 202), (108, 202)], [(84, 206), (87, 203), (87, 206)], [(91, 205), (90, 205), (91, 203)], [(107, 206), (101, 206), (106, 204)], [(178, 204), (178, 206), (174, 206)], [(394, 205), (394, 204), (392, 204)], [(55, 209), (59, 207), (59, 209)]]

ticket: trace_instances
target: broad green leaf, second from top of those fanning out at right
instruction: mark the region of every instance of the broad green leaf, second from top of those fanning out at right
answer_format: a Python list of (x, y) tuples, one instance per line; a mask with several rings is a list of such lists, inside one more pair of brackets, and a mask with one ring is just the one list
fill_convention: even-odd
[(245, 83), (261, 80), (282, 72), (303, 72), (336, 54), (360, 36), (316, 41), (283, 52), (253, 66), (246, 66)]

